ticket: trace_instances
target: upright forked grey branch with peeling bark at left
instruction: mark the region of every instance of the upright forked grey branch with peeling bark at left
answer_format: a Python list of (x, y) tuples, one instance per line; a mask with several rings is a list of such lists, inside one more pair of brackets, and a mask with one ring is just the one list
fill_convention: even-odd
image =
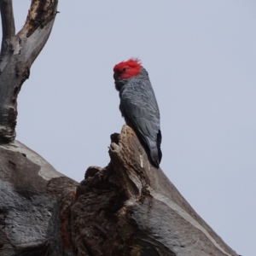
[(17, 96), (30, 68), (49, 38), (57, 0), (32, 0), (23, 28), (15, 35), (11, 0), (1, 0), (3, 40), (0, 54), (0, 142), (15, 139)]

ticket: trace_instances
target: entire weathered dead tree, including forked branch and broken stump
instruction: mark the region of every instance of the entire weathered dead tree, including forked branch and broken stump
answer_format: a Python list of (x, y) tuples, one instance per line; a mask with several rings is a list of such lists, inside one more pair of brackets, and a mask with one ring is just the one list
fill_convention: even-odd
[(0, 255), (237, 256), (148, 162), (125, 125), (113, 134), (105, 168), (81, 183), (15, 141), (17, 96), (46, 43), (56, 0), (32, 0), (15, 34), (10, 0), (0, 0)]

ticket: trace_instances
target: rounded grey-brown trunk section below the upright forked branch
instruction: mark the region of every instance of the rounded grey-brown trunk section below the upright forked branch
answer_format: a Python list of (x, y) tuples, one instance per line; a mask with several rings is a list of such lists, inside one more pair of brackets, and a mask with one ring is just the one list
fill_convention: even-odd
[(63, 216), (76, 186), (22, 143), (0, 145), (0, 255), (70, 255)]

